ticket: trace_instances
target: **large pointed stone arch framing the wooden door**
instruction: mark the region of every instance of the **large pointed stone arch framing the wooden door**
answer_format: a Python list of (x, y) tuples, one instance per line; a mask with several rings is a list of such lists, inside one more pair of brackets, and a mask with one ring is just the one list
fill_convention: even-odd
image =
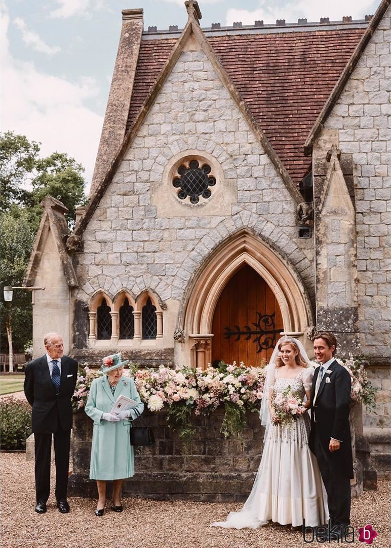
[[(188, 335), (186, 345), (192, 350), (192, 363), (196, 366), (205, 367), (210, 361), (215, 306), (227, 282), (244, 264), (258, 272), (275, 294), (284, 333), (297, 336), (303, 343), (308, 342), (307, 329), (313, 326), (313, 313), (300, 275), (265, 241), (248, 230), (241, 230), (209, 256), (185, 294), (179, 327)], [(203, 363), (197, 358), (198, 350), (202, 350)]]

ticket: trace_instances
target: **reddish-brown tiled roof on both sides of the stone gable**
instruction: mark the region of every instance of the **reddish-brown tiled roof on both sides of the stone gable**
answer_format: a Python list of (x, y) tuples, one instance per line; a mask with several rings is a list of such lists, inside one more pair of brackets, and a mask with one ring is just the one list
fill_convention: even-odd
[[(276, 29), (277, 31), (277, 29)], [(304, 143), (364, 28), (213, 36), (209, 43), (296, 185), (311, 159)], [(129, 128), (176, 39), (142, 40)]]

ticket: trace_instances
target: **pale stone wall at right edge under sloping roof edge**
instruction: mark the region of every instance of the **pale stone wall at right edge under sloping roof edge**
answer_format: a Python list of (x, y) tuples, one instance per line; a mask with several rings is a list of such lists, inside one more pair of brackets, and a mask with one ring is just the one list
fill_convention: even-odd
[(389, 356), (390, 9), (326, 120), (354, 162), (359, 330), (366, 356)]

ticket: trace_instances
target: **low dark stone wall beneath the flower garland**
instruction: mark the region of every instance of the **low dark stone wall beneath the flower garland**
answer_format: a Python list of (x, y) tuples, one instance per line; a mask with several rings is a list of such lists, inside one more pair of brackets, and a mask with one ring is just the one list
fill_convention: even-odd
[[(205, 502), (244, 501), (251, 490), (263, 448), (264, 427), (256, 413), (248, 413), (242, 441), (220, 433), (223, 410), (194, 421), (195, 435), (188, 447), (167, 424), (166, 414), (143, 414), (153, 427), (155, 444), (136, 450), (133, 478), (122, 487), (124, 496)], [(92, 420), (76, 413), (73, 421), (73, 467), (69, 493), (95, 496), (89, 479)]]

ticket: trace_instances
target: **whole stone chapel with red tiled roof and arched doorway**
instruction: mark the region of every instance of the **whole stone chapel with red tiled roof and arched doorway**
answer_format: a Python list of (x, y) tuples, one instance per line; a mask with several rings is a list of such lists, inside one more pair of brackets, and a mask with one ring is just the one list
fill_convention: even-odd
[(326, 329), (369, 359), (364, 424), (388, 426), (390, 1), (211, 28), (185, 7), (183, 30), (122, 11), (89, 202), (72, 233), (42, 204), (34, 356), (57, 331), (81, 363), (260, 366)]

